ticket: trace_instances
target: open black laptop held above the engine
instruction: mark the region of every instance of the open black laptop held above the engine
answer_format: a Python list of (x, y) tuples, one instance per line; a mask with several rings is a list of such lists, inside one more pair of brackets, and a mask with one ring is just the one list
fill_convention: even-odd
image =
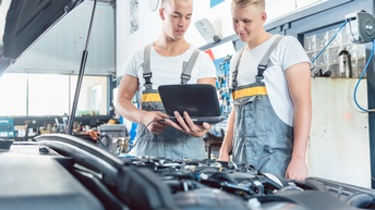
[(216, 124), (221, 115), (216, 88), (209, 84), (161, 85), (158, 87), (161, 102), (170, 120), (178, 122), (173, 112), (186, 111), (194, 124)]

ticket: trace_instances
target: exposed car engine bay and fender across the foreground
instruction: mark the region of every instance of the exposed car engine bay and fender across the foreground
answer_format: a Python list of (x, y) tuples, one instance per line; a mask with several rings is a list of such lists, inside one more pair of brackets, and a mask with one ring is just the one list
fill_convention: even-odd
[(0, 209), (375, 209), (375, 192), (230, 161), (113, 156), (65, 134), (0, 152)]

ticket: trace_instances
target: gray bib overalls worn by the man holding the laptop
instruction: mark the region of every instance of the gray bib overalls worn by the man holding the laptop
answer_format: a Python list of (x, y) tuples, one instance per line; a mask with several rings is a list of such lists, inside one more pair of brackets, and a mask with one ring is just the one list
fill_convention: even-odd
[[(147, 111), (165, 112), (157, 89), (153, 88), (149, 63), (152, 46), (146, 46), (144, 51), (143, 77), (145, 90), (142, 91), (142, 109)], [(201, 50), (196, 49), (189, 62), (182, 64), (181, 84), (186, 84)], [(141, 138), (138, 136), (143, 133)], [(143, 124), (137, 125), (136, 137), (138, 140), (132, 152), (135, 156), (150, 156), (167, 159), (204, 159), (206, 158), (205, 144), (202, 137), (189, 136), (172, 127), (167, 127), (160, 135), (153, 134)]]

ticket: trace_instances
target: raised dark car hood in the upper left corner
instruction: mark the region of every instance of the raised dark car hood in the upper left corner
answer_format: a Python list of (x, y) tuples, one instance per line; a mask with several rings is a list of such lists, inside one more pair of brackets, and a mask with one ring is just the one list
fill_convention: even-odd
[(0, 0), (0, 76), (83, 0)]

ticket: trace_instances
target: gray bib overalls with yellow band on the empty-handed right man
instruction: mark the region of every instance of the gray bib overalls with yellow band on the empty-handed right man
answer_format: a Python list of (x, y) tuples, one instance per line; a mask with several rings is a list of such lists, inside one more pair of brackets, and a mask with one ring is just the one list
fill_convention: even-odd
[(237, 61), (232, 73), (233, 111), (235, 111), (233, 161), (247, 163), (261, 172), (285, 177), (291, 159), (293, 128), (277, 116), (267, 96), (265, 83), (262, 82), (269, 54), (281, 38), (282, 36), (277, 37), (262, 59), (255, 83), (237, 85), (242, 52)]

